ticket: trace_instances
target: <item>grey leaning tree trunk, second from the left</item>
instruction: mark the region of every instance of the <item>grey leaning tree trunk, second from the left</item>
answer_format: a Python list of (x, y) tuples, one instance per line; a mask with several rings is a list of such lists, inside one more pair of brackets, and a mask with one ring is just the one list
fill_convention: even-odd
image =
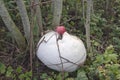
[(16, 3), (17, 3), (18, 10), (19, 10), (21, 18), (22, 18), (25, 37), (26, 37), (27, 41), (29, 42), (29, 40), (30, 40), (30, 22), (29, 22), (26, 8), (25, 8), (25, 4), (24, 4), (23, 0), (16, 0)]

